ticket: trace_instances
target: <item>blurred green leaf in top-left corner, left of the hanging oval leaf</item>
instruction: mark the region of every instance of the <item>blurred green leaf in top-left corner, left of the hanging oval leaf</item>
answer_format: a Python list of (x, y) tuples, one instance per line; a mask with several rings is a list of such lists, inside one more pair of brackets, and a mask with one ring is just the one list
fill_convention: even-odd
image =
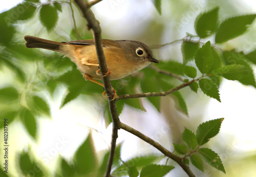
[(12, 13), (18, 13), (17, 20), (27, 20), (34, 15), (35, 10), (36, 7), (31, 5), (31, 3), (24, 2), (14, 7)]

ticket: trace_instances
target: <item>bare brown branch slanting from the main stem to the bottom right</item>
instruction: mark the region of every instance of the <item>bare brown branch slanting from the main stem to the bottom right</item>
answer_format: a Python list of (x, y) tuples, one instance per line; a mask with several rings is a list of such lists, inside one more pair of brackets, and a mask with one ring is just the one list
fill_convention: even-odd
[[(139, 132), (138, 130), (130, 127), (129, 125), (126, 125), (124, 123), (121, 123), (121, 129), (124, 129), (128, 132), (130, 132), (131, 134), (139, 137), (140, 139), (142, 139), (143, 141), (147, 142), (148, 144), (151, 144), (152, 146), (154, 146), (155, 148), (157, 148), (159, 151), (161, 151), (165, 156), (169, 157), (170, 159), (174, 160), (175, 162), (177, 162), (181, 168), (187, 173), (188, 176), (195, 176), (195, 174), (193, 174), (193, 172), (190, 170), (189, 166), (186, 165), (182, 159), (178, 156), (176, 156), (174, 153), (168, 151), (166, 148), (164, 148), (161, 144), (159, 144), (158, 142), (152, 140), (151, 138), (145, 136), (144, 134), (142, 134), (141, 132)], [(196, 177), (196, 176), (195, 176)]]

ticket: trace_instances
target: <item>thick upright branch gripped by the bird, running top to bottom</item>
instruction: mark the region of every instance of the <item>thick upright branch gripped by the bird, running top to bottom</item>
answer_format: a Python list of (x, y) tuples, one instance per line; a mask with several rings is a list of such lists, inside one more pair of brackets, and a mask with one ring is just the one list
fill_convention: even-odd
[[(100, 1), (95, 0), (92, 2), (87, 2), (83, 0), (75, 0), (75, 3), (82, 11), (84, 18), (86, 18), (88, 21), (88, 24), (87, 24), (88, 29), (93, 30), (93, 38), (94, 38), (94, 44), (95, 44), (96, 53), (98, 57), (99, 68), (101, 73), (106, 73), (108, 71), (108, 67), (106, 66), (105, 56), (104, 56), (103, 47), (102, 47), (101, 28), (93, 12), (90, 10), (90, 7), (98, 2)], [(113, 120), (110, 157), (109, 157), (108, 166), (106, 167), (106, 172), (105, 172), (105, 177), (108, 177), (110, 176), (111, 167), (114, 161), (117, 131), (120, 127), (120, 120), (116, 110), (116, 101), (115, 100), (111, 101), (113, 99), (114, 92), (110, 82), (110, 77), (109, 76), (102, 77), (102, 80), (103, 80), (105, 92), (109, 96), (110, 113)]]

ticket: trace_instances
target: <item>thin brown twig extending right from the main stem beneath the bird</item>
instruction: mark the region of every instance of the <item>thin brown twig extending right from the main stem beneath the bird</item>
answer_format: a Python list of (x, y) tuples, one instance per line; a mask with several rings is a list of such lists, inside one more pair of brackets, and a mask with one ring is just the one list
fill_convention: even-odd
[[(198, 79), (197, 79), (198, 80)], [(122, 99), (129, 99), (129, 98), (142, 98), (142, 97), (159, 97), (159, 96), (166, 96), (169, 94), (172, 94), (182, 88), (184, 88), (185, 86), (191, 84), (194, 81), (197, 80), (191, 80), (189, 82), (185, 82), (182, 83), (176, 87), (174, 87), (173, 89), (170, 89), (168, 91), (165, 92), (148, 92), (148, 93), (142, 93), (142, 94), (127, 94), (127, 95), (118, 95), (116, 100), (122, 100)]]

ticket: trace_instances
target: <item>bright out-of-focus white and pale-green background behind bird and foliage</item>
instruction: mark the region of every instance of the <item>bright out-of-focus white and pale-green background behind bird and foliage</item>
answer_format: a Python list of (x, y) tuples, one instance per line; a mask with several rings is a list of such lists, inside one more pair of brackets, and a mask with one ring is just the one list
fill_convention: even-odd
[[(19, 2), (22, 1), (1, 1), (0, 12), (12, 8)], [(47, 1), (41, 1), (41, 3), (47, 3)], [(92, 11), (100, 21), (102, 38), (138, 40), (150, 46), (183, 38), (186, 32), (196, 34), (194, 22), (197, 15), (216, 6), (220, 6), (221, 20), (229, 16), (256, 13), (256, 2), (250, 0), (162, 1), (162, 15), (158, 14), (153, 2), (149, 0), (104, 0), (93, 6)], [(86, 28), (86, 21), (80, 16), (75, 6), (73, 7), (78, 30)], [(63, 4), (58, 24), (50, 33), (47, 33), (40, 24), (38, 15), (27, 22), (17, 23), (17, 28), (19, 33), (15, 38), (24, 44), (23, 36), (25, 35), (58, 41), (69, 39), (73, 28), (70, 7), (68, 4)], [(246, 34), (228, 41), (223, 47), (238, 48), (247, 53), (255, 49), (255, 44), (256, 25), (254, 23)], [(182, 62), (180, 48), (181, 43), (176, 43), (162, 49), (155, 49), (154, 56), (159, 60)], [(53, 54), (46, 50), (40, 50), (40, 52), (45, 53), (45, 56)], [(252, 67), (255, 75), (255, 65)], [(15, 77), (8, 68), (5, 68), (0, 71), (0, 80), (2, 88), (13, 84)], [(79, 96), (59, 109), (63, 95), (66, 93), (65, 85), (58, 85), (53, 98), (45, 94), (51, 105), (52, 119), (38, 119), (37, 128), (40, 137), (38, 142), (33, 141), (27, 134), (22, 123), (15, 121), (10, 125), (10, 161), (15, 160), (16, 152), (31, 146), (36, 156), (41, 158), (54, 173), (58, 154), (71, 159), (90, 130), (93, 132), (95, 148), (99, 156), (104, 149), (109, 148), (112, 127), (111, 125), (105, 127), (102, 101), (95, 100), (93, 97), (85, 99), (85, 96)], [(187, 103), (189, 117), (175, 108), (174, 101), (163, 97), (161, 113), (158, 113), (146, 99), (142, 99), (146, 112), (125, 105), (120, 120), (173, 151), (172, 143), (180, 142), (184, 127), (195, 132), (201, 122), (223, 117), (225, 119), (220, 133), (207, 146), (220, 155), (226, 174), (210, 167), (205, 173), (192, 167), (193, 172), (196, 176), (256, 176), (255, 88), (224, 79), (220, 86), (221, 103), (203, 93), (195, 94), (188, 88), (182, 89), (181, 93)], [(3, 130), (0, 131), (0, 135), (3, 135)], [(138, 154), (159, 153), (154, 147), (123, 130), (119, 131), (118, 136), (118, 143), (121, 142), (123, 143), (121, 154), (123, 160), (131, 159)], [(2, 156), (3, 152), (0, 154), (0, 157)], [(3, 163), (3, 158), (0, 158), (0, 162)], [(172, 163), (172, 165), (176, 164)], [(186, 176), (180, 167), (177, 165), (176, 167), (167, 176)], [(11, 176), (18, 176), (18, 170), (14, 168), (14, 164), (9, 168)]]

